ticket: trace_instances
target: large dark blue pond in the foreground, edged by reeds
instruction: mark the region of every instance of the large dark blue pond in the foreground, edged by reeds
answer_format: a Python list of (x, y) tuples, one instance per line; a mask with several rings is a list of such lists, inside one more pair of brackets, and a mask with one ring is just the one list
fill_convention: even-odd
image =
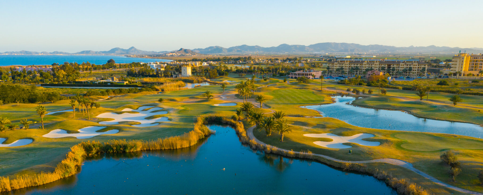
[(397, 194), (371, 176), (255, 152), (231, 127), (210, 128), (216, 134), (192, 147), (94, 157), (79, 174), (12, 194)]

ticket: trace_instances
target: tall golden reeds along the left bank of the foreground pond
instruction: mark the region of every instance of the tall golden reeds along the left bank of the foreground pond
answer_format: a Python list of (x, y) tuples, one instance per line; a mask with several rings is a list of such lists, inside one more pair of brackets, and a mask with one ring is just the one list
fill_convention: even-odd
[(194, 129), (180, 136), (159, 138), (152, 140), (111, 139), (104, 143), (99, 141), (84, 141), (71, 147), (66, 158), (62, 160), (53, 172), (38, 174), (22, 174), (15, 178), (0, 177), (0, 192), (12, 191), (20, 188), (43, 185), (52, 181), (69, 177), (79, 172), (80, 166), (87, 156), (100, 153), (124, 153), (142, 150), (179, 149), (192, 146), (213, 132), (204, 125), (205, 119), (199, 116)]

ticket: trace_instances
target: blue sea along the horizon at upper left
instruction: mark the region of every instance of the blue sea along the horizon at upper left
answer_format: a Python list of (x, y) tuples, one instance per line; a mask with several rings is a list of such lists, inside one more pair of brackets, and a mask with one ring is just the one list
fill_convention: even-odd
[(0, 66), (10, 65), (52, 65), (53, 63), (63, 64), (64, 62), (90, 62), (91, 64), (102, 65), (107, 60), (114, 59), (116, 63), (131, 62), (168, 62), (167, 59), (139, 58), (126, 56), (59, 56), (59, 55), (0, 55)]

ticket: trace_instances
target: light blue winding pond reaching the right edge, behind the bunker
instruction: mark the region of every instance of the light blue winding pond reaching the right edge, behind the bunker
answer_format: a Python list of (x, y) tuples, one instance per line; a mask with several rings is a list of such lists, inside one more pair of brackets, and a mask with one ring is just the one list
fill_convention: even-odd
[(403, 111), (378, 110), (354, 106), (355, 97), (334, 97), (336, 102), (326, 105), (302, 106), (321, 112), (348, 124), (376, 129), (448, 133), (483, 138), (483, 127), (469, 123), (419, 118)]

